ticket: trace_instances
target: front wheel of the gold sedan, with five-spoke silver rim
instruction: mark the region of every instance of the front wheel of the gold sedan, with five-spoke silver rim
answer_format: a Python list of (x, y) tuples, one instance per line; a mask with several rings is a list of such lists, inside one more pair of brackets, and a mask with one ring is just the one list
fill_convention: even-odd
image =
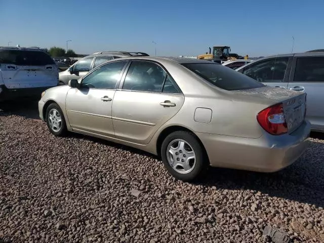
[(61, 137), (66, 134), (66, 123), (58, 104), (52, 103), (46, 109), (46, 122), (50, 132)]

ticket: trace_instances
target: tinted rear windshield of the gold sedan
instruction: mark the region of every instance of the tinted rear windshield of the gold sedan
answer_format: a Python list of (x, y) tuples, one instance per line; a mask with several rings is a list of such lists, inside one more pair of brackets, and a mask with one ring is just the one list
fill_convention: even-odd
[(257, 80), (228, 67), (215, 63), (182, 64), (212, 85), (223, 90), (249, 90), (264, 87)]

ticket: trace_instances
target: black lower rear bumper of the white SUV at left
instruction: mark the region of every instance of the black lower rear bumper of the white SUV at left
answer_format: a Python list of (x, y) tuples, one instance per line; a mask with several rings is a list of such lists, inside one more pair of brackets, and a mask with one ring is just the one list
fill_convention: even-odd
[(0, 101), (15, 100), (18, 98), (41, 98), (43, 91), (52, 87), (8, 89), (6, 86), (0, 86)]

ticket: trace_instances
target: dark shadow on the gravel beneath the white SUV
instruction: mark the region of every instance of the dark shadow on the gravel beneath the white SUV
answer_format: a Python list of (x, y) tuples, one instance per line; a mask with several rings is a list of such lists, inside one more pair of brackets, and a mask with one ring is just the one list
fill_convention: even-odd
[(0, 116), (19, 115), (25, 118), (39, 119), (39, 99), (21, 99), (19, 101), (6, 101), (0, 103)]

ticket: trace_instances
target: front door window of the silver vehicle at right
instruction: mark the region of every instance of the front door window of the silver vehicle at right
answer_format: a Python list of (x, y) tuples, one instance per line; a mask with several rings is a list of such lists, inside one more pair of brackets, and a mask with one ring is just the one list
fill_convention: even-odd
[(284, 82), (289, 58), (271, 58), (244, 68), (243, 73), (262, 83)]

